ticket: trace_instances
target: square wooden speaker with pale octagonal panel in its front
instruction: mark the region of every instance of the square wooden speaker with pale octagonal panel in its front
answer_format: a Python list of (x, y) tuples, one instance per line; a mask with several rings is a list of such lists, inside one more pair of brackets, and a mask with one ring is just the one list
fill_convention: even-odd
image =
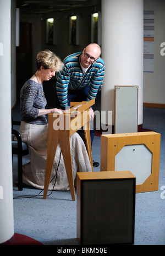
[(129, 170), (136, 193), (158, 190), (160, 143), (156, 132), (101, 135), (101, 171)]

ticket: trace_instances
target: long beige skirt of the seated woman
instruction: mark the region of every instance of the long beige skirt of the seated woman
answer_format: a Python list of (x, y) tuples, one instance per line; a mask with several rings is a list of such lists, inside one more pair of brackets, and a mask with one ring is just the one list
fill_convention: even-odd
[[(21, 121), (20, 134), (22, 140), (29, 146), (30, 157), (30, 162), (23, 166), (23, 183), (38, 189), (43, 189), (45, 181), (48, 124), (37, 125)], [(91, 165), (84, 141), (78, 133), (74, 133), (70, 137), (70, 149), (75, 181), (76, 172), (91, 172)], [(58, 164), (59, 167), (57, 170)], [(54, 158), (51, 180), (49, 190), (69, 190), (67, 173), (65, 171), (63, 155), (61, 154), (59, 144), (57, 145), (56, 156)]]

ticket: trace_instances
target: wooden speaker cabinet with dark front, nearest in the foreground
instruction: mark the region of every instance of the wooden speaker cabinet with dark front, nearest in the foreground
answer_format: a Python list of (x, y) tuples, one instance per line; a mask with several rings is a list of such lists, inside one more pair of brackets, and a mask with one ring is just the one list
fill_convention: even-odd
[(135, 176), (130, 171), (77, 173), (79, 244), (133, 244)]

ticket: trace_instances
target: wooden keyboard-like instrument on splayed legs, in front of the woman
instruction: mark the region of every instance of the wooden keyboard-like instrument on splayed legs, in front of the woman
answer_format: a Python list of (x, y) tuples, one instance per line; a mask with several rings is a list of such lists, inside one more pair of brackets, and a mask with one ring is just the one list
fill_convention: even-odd
[[(48, 115), (48, 146), (43, 199), (46, 199), (47, 197), (54, 157), (59, 141), (63, 154), (65, 170), (67, 172), (70, 193), (72, 195), (72, 200), (75, 201), (72, 157), (70, 150), (70, 136), (81, 127), (83, 127), (84, 129), (86, 149), (93, 171), (89, 108), (94, 104), (95, 99), (91, 101), (71, 102), (71, 108), (69, 108), (69, 110), (66, 110), (63, 114), (51, 113)], [(57, 126), (57, 124), (59, 124), (59, 126)]]

